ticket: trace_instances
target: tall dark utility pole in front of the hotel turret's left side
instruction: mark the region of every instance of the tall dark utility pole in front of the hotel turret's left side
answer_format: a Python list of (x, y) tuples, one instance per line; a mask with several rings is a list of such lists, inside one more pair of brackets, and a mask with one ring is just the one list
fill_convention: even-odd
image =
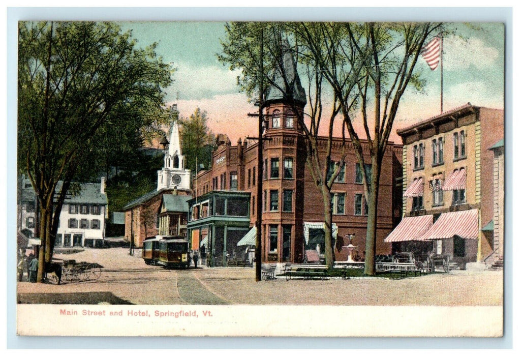
[(257, 202), (256, 202), (256, 282), (261, 281), (261, 196), (263, 195), (263, 187), (261, 184), (263, 174), (263, 28), (260, 29), (260, 52), (259, 52), (259, 65), (258, 65), (258, 85), (259, 85), (259, 98), (258, 98), (258, 176), (256, 181), (258, 184), (257, 189)]

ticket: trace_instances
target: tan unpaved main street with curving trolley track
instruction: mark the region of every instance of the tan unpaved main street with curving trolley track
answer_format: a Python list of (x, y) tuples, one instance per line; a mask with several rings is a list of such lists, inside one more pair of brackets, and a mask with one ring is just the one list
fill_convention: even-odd
[(503, 273), (451, 271), (402, 280), (277, 279), (255, 282), (254, 268), (164, 270), (137, 251), (86, 249), (55, 255), (104, 266), (97, 281), (63, 285), (21, 282), (20, 303), (258, 305), (503, 305)]

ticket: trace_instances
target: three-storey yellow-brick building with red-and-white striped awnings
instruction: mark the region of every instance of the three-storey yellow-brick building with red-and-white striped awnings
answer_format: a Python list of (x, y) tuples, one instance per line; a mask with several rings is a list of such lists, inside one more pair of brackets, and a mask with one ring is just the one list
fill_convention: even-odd
[(403, 139), (404, 218), (393, 250), (447, 254), (464, 266), (494, 248), (492, 152), (503, 110), (470, 103), (397, 131)]

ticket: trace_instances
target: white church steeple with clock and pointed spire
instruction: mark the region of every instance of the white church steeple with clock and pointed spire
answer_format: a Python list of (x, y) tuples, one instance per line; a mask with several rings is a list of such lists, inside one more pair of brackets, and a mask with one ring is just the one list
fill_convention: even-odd
[(185, 169), (185, 156), (181, 154), (178, 120), (173, 122), (170, 132), (169, 148), (165, 151), (164, 168), (158, 171), (157, 190), (176, 188), (190, 190), (191, 172)]

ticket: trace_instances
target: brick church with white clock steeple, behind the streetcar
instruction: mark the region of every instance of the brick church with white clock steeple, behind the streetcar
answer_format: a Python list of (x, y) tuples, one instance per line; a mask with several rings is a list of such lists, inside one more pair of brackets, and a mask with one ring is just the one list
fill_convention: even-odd
[[(164, 167), (158, 171), (156, 190), (123, 207), (126, 214), (124, 239), (130, 241), (134, 247), (141, 247), (146, 237), (158, 235), (158, 229), (161, 226), (164, 227), (164, 230), (169, 230), (169, 226), (174, 224), (174, 219), (169, 220), (171, 217), (180, 214), (187, 215), (186, 200), (167, 198), (167, 205), (165, 205), (163, 199), (164, 194), (190, 195), (191, 173), (190, 170), (185, 169), (185, 156), (181, 152), (177, 122), (171, 129), (170, 142), (163, 143), (168, 144), (168, 148), (165, 151)], [(180, 211), (176, 209), (180, 209)], [(163, 214), (162, 219), (160, 219), (161, 214)], [(185, 231), (185, 225), (181, 227), (180, 224), (178, 227), (181, 231)], [(176, 231), (180, 231), (180, 229)]]

